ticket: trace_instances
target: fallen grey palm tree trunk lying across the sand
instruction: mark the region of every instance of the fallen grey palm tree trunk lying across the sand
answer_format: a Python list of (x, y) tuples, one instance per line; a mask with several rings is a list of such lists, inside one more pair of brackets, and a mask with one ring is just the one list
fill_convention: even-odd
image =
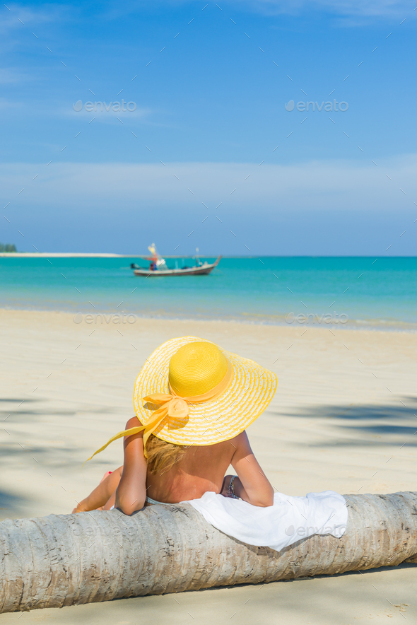
[(4, 520), (0, 612), (417, 562), (417, 492), (346, 499), (341, 539), (279, 553), (226, 536), (189, 504)]

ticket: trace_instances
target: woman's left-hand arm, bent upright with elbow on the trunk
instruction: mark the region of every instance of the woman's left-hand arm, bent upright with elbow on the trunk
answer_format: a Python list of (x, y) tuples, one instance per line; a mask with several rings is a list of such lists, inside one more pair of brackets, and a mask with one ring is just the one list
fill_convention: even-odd
[[(138, 426), (136, 416), (129, 419), (126, 429)], [(116, 508), (131, 515), (141, 510), (146, 500), (146, 458), (143, 455), (143, 432), (124, 438), (122, 479), (116, 491)]]

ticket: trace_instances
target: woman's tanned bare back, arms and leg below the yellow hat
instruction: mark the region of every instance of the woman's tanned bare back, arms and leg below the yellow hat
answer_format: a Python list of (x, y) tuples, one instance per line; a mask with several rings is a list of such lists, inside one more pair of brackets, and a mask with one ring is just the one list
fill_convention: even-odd
[[(137, 422), (136, 417), (129, 419), (126, 428), (133, 428)], [(148, 459), (143, 454), (143, 432), (127, 436), (123, 466), (106, 473), (73, 512), (110, 510), (115, 506), (131, 515), (148, 503), (179, 503), (198, 499), (207, 491), (225, 497), (235, 495), (252, 506), (274, 503), (274, 489), (259, 467), (245, 431), (223, 443), (189, 448), (161, 444), (151, 435), (147, 451)], [(223, 479), (230, 465), (238, 477), (226, 475)]]

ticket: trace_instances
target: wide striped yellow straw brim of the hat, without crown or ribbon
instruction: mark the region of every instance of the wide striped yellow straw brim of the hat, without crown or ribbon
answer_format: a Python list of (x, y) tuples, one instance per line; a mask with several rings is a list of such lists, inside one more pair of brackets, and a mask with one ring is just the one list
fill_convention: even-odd
[[(153, 410), (143, 402), (143, 397), (170, 392), (170, 358), (180, 347), (194, 341), (204, 339), (181, 337), (167, 341), (153, 352), (141, 369), (134, 385), (133, 401), (136, 416), (143, 425), (153, 416)], [(225, 392), (213, 401), (189, 404), (189, 415), (182, 421), (168, 416), (153, 432), (155, 436), (175, 445), (214, 445), (240, 434), (266, 409), (276, 391), (275, 373), (248, 358), (221, 351), (233, 365), (233, 378)]]

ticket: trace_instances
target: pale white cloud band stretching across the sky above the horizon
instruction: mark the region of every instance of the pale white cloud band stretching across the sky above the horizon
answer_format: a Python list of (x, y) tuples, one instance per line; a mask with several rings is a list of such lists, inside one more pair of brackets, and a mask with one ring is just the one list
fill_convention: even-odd
[[(416, 154), (380, 161), (378, 167), (346, 160), (261, 167), (254, 163), (52, 163), (45, 168), (15, 163), (1, 165), (0, 181), (6, 201), (15, 197), (24, 204), (26, 197), (42, 206), (89, 206), (93, 212), (98, 206), (107, 211), (119, 204), (126, 211), (154, 206), (168, 214), (172, 206), (188, 211), (204, 202), (214, 209), (222, 202), (220, 211), (256, 209), (269, 215), (389, 213), (416, 209), (416, 167)], [(39, 173), (34, 182), (33, 172)], [(22, 187), (25, 194), (17, 198)]]

